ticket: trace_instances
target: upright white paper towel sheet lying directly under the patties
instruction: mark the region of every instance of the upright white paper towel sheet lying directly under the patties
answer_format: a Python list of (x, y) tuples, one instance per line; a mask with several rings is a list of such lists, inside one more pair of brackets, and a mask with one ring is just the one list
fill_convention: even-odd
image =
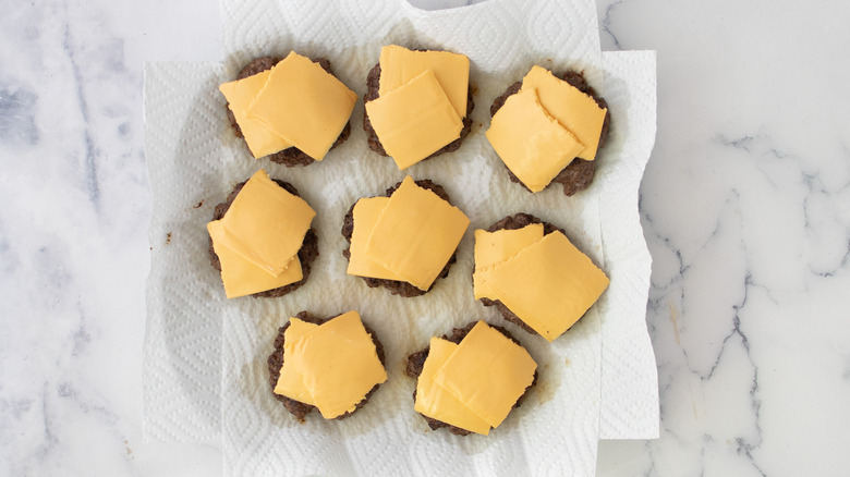
[[(275, 9), (279, 10), (276, 11)], [(256, 11), (274, 12), (257, 17)], [(280, 12), (279, 14), (277, 12)], [(321, 255), (309, 281), (298, 293), (275, 301), (232, 301), (222, 330), (222, 451), (228, 475), (493, 475), (497, 473), (592, 475), (599, 426), (600, 333), (592, 310), (554, 344), (507, 325), (541, 365), (538, 388), (489, 437), (458, 438), (430, 432), (411, 412), (414, 381), (403, 374), (404, 358), (428, 338), (485, 318), (505, 325), (493, 308), (472, 299), (472, 231), (519, 211), (534, 213), (567, 229), (570, 237), (604, 264), (597, 194), (567, 199), (554, 187), (531, 195), (507, 180), (501, 162), (482, 134), (489, 103), (533, 63), (583, 69), (602, 86), (598, 34), (593, 2), (498, 1), (462, 10), (420, 12), (401, 2), (329, 2), (321, 9), (275, 1), (224, 1), (229, 74), (259, 54), (290, 49), (331, 60), (337, 75), (357, 94), (377, 62), (380, 46), (401, 44), (461, 51), (473, 64), (477, 89), (473, 133), (460, 150), (400, 172), (392, 160), (372, 152), (357, 106), (351, 137), (325, 161), (304, 169), (270, 168), (272, 176), (292, 182), (316, 209), (314, 221)], [(377, 20), (375, 16), (378, 16)], [(381, 16), (384, 15), (384, 16)], [(242, 28), (240, 25), (251, 27)], [(558, 28), (552, 28), (552, 26)], [(283, 32), (268, 40), (265, 32)], [(241, 144), (228, 145), (243, 158), (227, 166), (231, 182), (258, 164)], [(442, 184), (472, 220), (458, 262), (434, 291), (400, 298), (369, 289), (345, 276), (342, 218), (363, 196), (381, 195), (410, 173)], [(227, 191), (221, 191), (220, 197)], [(206, 285), (218, 289), (216, 281)], [(326, 423), (315, 416), (301, 425), (268, 388), (266, 358), (277, 328), (302, 309), (329, 316), (357, 309), (385, 345), (390, 379), (354, 417)], [(282, 445), (281, 443), (286, 443)]]

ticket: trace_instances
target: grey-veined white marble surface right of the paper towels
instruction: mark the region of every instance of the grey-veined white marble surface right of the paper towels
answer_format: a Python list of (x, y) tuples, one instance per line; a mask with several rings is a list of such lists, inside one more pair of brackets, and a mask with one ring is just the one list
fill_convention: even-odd
[(621, 0), (598, 12), (604, 48), (658, 50), (641, 211), (663, 428), (603, 443), (599, 474), (842, 475), (850, 10)]

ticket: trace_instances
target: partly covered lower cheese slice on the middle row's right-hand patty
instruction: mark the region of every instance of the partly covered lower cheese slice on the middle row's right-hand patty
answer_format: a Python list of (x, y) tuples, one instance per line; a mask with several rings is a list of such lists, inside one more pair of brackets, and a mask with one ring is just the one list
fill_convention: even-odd
[(481, 283), (481, 272), (517, 255), (543, 238), (543, 224), (532, 223), (517, 230), (475, 231), (475, 272), (472, 274), (475, 299), (498, 299)]

